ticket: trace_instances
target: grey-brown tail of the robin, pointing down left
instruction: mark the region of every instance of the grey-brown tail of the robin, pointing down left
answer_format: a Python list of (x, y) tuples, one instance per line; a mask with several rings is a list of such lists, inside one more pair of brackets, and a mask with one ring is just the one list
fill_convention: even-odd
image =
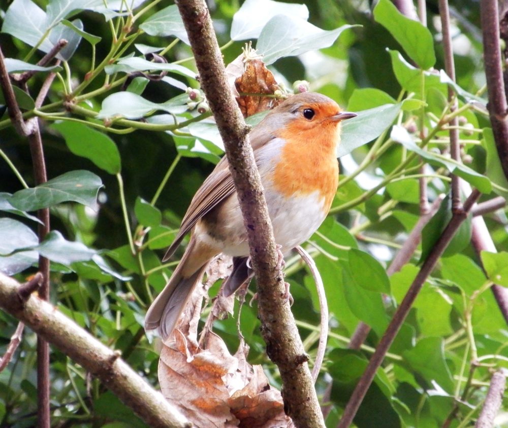
[(166, 287), (153, 301), (145, 315), (145, 330), (157, 329), (163, 339), (166, 339), (175, 328), (180, 314), (208, 265), (208, 261), (206, 261), (188, 277), (182, 274), (189, 256), (192, 255), (194, 243), (194, 239), (191, 238), (182, 260), (171, 275)]

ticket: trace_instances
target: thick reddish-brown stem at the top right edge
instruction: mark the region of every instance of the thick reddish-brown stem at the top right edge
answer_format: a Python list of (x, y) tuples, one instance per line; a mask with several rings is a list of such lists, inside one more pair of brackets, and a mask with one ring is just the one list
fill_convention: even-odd
[(489, 102), (487, 104), (497, 154), (508, 179), (508, 104), (506, 103), (501, 50), (499, 45), (499, 15), (497, 0), (482, 0), (480, 15), (483, 32), (485, 75)]

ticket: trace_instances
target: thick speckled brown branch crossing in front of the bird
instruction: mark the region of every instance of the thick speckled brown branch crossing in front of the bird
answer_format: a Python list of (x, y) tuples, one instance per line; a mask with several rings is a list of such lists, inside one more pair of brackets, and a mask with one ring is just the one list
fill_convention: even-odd
[(258, 284), (258, 307), (270, 359), (279, 368), (282, 397), (297, 426), (324, 426), (308, 356), (285, 293), (277, 266), (273, 230), (261, 186), (248, 128), (228, 86), (224, 62), (204, 0), (180, 0), (178, 9), (193, 49), (202, 88), (224, 141), (250, 247)]

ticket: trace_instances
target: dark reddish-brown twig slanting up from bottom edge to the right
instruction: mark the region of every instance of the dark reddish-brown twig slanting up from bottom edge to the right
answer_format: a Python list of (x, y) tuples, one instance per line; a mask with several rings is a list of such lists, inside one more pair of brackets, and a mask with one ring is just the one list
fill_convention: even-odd
[(402, 326), (404, 319), (406, 318), (412, 304), (418, 296), (418, 293), (422, 289), (425, 280), (434, 269), (437, 261), (439, 260), (439, 257), (441, 257), (443, 254), (444, 250), (457, 232), (457, 229), (466, 219), (472, 205), (477, 201), (479, 197), (480, 192), (478, 190), (473, 190), (467, 200), (464, 202), (463, 209), (457, 210), (453, 213), (452, 219), (441, 233), (441, 236), (435, 243), (430, 254), (420, 268), (420, 271), (418, 272), (415, 280), (412, 282), (409, 290), (404, 296), (404, 299), (395, 312), (385, 334), (379, 341), (379, 344), (377, 345), (374, 354), (371, 356), (365, 372), (356, 385), (355, 390), (353, 391), (353, 394), (351, 395), (351, 398), (344, 409), (344, 413), (342, 415), (342, 419), (338, 424), (338, 428), (346, 428), (353, 422), (353, 418), (355, 417), (356, 412), (358, 411), (358, 408), (360, 407), (360, 404), (365, 397), (365, 394), (367, 393), (372, 380), (374, 379), (377, 369), (383, 363), (386, 352), (390, 348), (390, 345), (393, 343), (397, 332)]

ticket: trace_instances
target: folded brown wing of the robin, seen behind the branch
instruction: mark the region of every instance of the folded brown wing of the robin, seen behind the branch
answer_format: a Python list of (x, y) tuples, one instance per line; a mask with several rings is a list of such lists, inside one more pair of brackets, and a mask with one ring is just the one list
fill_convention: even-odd
[[(250, 144), (254, 151), (256, 160), (258, 160), (257, 155), (259, 155), (259, 149), (265, 146), (267, 139), (273, 138), (271, 133), (269, 134), (270, 135), (267, 135), (266, 132), (263, 132), (262, 127), (255, 127), (249, 133)], [(215, 169), (210, 173), (205, 182), (194, 195), (194, 198), (190, 202), (187, 212), (183, 217), (180, 231), (178, 232), (178, 235), (176, 235), (176, 238), (171, 246), (168, 248), (168, 251), (163, 258), (163, 262), (173, 255), (183, 237), (192, 230), (200, 218), (234, 192), (235, 185), (229, 170), (229, 162), (226, 156), (224, 156), (220, 159), (217, 166), (215, 166)]]

